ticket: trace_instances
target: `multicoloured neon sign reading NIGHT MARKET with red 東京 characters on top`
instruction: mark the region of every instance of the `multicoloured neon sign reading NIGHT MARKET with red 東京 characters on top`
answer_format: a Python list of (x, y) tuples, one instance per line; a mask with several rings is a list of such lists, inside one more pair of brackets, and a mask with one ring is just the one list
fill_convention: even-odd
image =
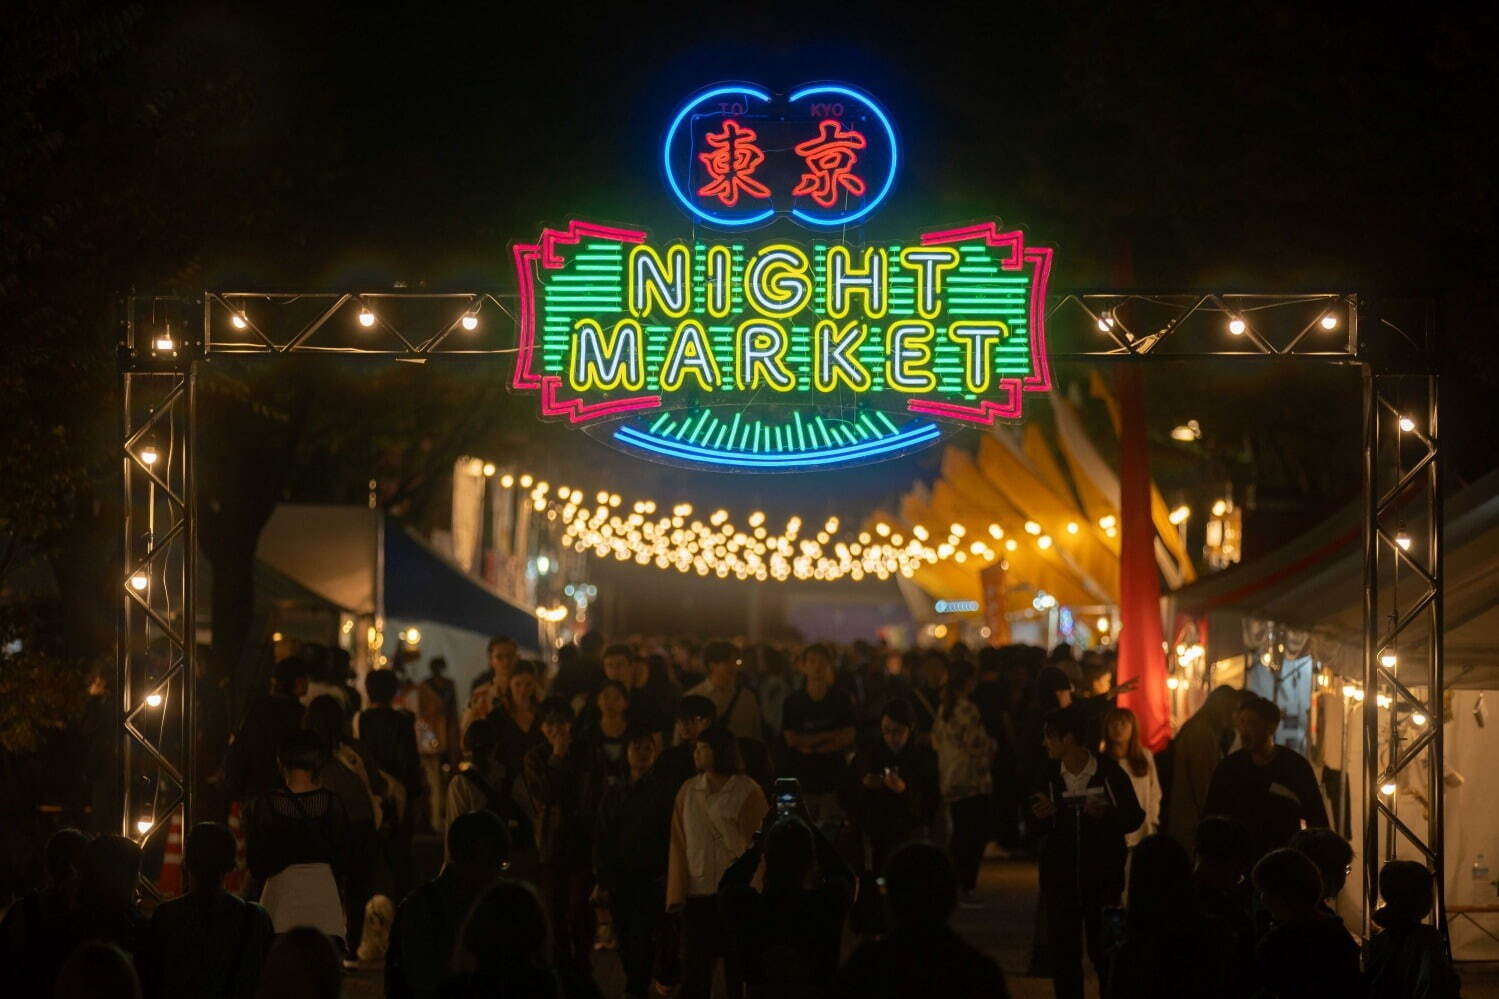
[(863, 92), (709, 87), (673, 114), (660, 154), (694, 228), (717, 234), (574, 220), (513, 248), (513, 387), (543, 417), (655, 460), (802, 471), (1015, 422), (1051, 388), (1049, 249), (994, 222), (853, 238), (899, 166), (895, 128)]

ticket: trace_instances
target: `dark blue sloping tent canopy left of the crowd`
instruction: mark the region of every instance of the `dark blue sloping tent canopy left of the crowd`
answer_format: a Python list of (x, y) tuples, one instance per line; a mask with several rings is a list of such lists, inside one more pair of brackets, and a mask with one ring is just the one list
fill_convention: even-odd
[(391, 520), (385, 522), (385, 616), (508, 634), (522, 648), (540, 646), (535, 614), (463, 574)]

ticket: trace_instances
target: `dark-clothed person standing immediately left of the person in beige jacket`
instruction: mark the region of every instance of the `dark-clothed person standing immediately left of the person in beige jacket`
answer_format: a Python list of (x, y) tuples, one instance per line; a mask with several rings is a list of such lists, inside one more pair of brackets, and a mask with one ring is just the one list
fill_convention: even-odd
[(642, 726), (625, 734), (625, 758), (630, 783), (610, 786), (598, 802), (594, 873), (600, 898), (615, 916), (625, 993), (645, 996), (666, 915), (667, 848), (679, 784), (655, 774), (657, 744), (651, 729)]

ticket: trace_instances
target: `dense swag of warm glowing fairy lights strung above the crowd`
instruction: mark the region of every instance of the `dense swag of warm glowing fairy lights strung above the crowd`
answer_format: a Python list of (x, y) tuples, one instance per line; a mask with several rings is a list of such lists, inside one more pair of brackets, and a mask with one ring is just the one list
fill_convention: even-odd
[[(490, 468), (487, 465), (486, 471)], [(773, 531), (761, 510), (741, 525), (727, 510), (714, 510), (706, 518), (696, 514), (691, 502), (667, 507), (655, 500), (636, 500), (627, 510), (618, 492), (588, 495), (573, 486), (553, 489), (531, 474), (505, 474), (499, 484), (522, 490), (535, 513), (559, 522), (562, 544), (576, 552), (720, 579), (910, 578), (938, 562), (974, 561), (980, 567), (1004, 562), (1004, 555), (1021, 546), (1021, 538), (1006, 536), (997, 524), (988, 525), (985, 537), (970, 537), (962, 524), (947, 525), (946, 536), (938, 537), (920, 524), (902, 532), (881, 520), (868, 531), (851, 532), (836, 516), (812, 526), (800, 516), (790, 516)], [(1099, 530), (1115, 536), (1114, 518), (1103, 518)], [(1075, 536), (1081, 526), (1067, 522), (1064, 531)], [(1025, 522), (1024, 540), (1040, 550), (1055, 544), (1034, 520)]]

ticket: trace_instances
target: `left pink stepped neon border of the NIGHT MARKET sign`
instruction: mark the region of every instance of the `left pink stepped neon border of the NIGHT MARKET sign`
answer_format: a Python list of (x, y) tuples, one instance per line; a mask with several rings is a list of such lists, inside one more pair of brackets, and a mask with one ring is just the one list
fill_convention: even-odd
[(565, 416), (570, 423), (586, 423), (637, 410), (655, 410), (661, 405), (661, 396), (630, 396), (594, 404), (586, 404), (582, 399), (564, 399), (562, 378), (538, 375), (534, 369), (537, 354), (537, 262), (541, 262), (543, 270), (559, 270), (565, 261), (556, 248), (564, 243), (577, 244), (583, 238), (645, 243), (646, 234), (639, 230), (619, 230), (574, 219), (568, 222), (565, 231), (541, 230), (541, 238), (534, 244), (517, 243), (514, 246), (511, 252), (516, 258), (516, 284), (520, 292), (520, 330), (516, 344), (516, 374), (510, 384), (523, 392), (540, 392), (541, 416)]

